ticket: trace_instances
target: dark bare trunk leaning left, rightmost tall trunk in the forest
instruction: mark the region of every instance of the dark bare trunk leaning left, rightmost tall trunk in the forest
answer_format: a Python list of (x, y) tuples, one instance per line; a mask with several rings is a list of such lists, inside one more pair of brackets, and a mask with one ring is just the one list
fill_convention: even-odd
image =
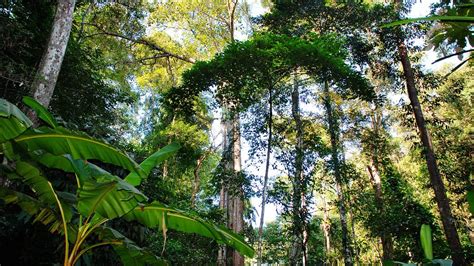
[(418, 100), (418, 91), (415, 86), (415, 76), (411, 68), (410, 60), (408, 58), (408, 51), (404, 43), (404, 39), (400, 38), (398, 42), (398, 53), (403, 66), (403, 73), (405, 75), (406, 88), (410, 103), (415, 116), (416, 125), (420, 134), (421, 142), (423, 144), (423, 152), (425, 154), (426, 165), (430, 176), (431, 187), (434, 190), (436, 203), (438, 205), (441, 221), (443, 223), (444, 234), (448, 241), (449, 248), (453, 257), (454, 265), (466, 265), (464, 259), (461, 242), (456, 230), (454, 217), (451, 213), (451, 206), (449, 199), (446, 196), (446, 189), (439, 173), (438, 164), (436, 163), (436, 156), (431, 143), (431, 137), (426, 128), (425, 118)]

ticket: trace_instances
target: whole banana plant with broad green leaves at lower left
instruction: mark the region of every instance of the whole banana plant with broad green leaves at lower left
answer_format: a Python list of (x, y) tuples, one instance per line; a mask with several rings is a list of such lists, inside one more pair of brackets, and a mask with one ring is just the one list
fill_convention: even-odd
[[(75, 265), (85, 253), (106, 245), (113, 247), (124, 265), (165, 264), (107, 226), (118, 218), (159, 228), (165, 239), (168, 229), (196, 233), (253, 256), (253, 249), (239, 235), (151, 201), (136, 188), (155, 166), (179, 149), (178, 144), (172, 143), (137, 164), (109, 144), (59, 126), (34, 99), (25, 97), (24, 103), (47, 126), (33, 128), (23, 112), (0, 99), (0, 177), (26, 184), (32, 193), (16, 191), (9, 185), (0, 187), (0, 199), (5, 204), (17, 204), (34, 217), (34, 222), (64, 236), (64, 265)], [(129, 174), (122, 179), (89, 160), (123, 168)], [(61, 170), (65, 178), (74, 176), (72, 191), (56, 188), (43, 168)], [(91, 236), (99, 241), (94, 243)]]

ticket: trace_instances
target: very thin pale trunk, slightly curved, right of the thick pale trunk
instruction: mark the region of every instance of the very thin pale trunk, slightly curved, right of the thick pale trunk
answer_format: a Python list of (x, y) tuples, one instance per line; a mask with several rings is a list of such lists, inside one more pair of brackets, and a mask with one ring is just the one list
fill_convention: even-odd
[(268, 140), (267, 140), (267, 161), (265, 162), (265, 175), (263, 177), (262, 188), (262, 209), (260, 211), (260, 226), (258, 228), (258, 266), (262, 264), (262, 235), (263, 221), (265, 218), (265, 204), (267, 202), (268, 172), (270, 170), (270, 155), (272, 149), (272, 123), (273, 123), (273, 98), (272, 88), (268, 90)]

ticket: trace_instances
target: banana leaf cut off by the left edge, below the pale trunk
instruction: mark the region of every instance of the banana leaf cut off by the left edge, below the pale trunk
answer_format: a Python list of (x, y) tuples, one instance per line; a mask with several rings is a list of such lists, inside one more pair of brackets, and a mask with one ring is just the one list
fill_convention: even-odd
[(31, 120), (5, 99), (0, 99), (0, 142), (13, 139), (32, 126)]

